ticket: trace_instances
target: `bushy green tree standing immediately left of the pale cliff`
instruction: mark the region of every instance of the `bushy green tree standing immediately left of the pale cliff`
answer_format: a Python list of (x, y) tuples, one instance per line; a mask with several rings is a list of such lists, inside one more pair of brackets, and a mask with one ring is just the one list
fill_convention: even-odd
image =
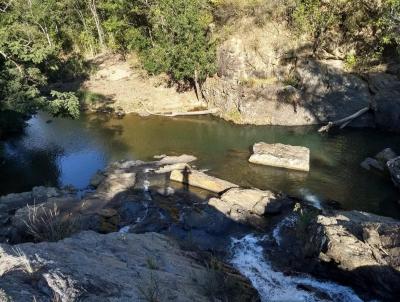
[(148, 43), (142, 52), (152, 73), (167, 72), (176, 81), (204, 80), (215, 72), (215, 45), (208, 26), (212, 16), (203, 0), (158, 0), (148, 13)]

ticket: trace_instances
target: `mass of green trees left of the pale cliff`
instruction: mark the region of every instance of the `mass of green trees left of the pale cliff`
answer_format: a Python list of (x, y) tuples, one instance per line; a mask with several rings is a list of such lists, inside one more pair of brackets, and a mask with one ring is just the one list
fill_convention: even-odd
[(136, 51), (150, 73), (177, 82), (204, 80), (211, 22), (207, 0), (0, 0), (0, 115), (77, 117), (77, 97), (49, 84), (85, 75), (82, 58), (105, 50)]

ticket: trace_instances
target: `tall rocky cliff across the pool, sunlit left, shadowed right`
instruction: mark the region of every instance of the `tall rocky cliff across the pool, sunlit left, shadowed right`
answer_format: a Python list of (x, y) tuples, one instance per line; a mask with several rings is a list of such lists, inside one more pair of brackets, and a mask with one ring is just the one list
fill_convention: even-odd
[(352, 126), (400, 130), (398, 65), (356, 73), (334, 43), (315, 52), (284, 24), (257, 28), (240, 22), (218, 47), (217, 75), (203, 85), (221, 117), (241, 124), (311, 125), (370, 107)]

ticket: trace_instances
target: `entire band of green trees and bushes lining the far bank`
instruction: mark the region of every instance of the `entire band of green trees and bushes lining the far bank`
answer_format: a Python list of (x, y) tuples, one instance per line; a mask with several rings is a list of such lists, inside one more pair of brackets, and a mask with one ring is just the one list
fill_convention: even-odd
[(11, 111), (76, 117), (77, 97), (49, 87), (86, 76), (83, 58), (103, 51), (135, 51), (151, 74), (201, 82), (215, 72), (213, 22), (247, 16), (309, 34), (316, 50), (339, 36), (354, 46), (349, 64), (400, 45), (400, 0), (0, 0), (0, 127)]

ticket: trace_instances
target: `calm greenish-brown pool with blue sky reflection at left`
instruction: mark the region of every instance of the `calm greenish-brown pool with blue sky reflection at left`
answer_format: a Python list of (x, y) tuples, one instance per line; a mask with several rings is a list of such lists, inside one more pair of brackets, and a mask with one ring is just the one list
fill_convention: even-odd
[[(200, 168), (242, 186), (400, 217), (400, 196), (389, 176), (360, 167), (362, 160), (384, 148), (400, 152), (400, 137), (394, 134), (347, 129), (321, 135), (315, 127), (237, 126), (212, 117), (48, 119), (39, 114), (24, 136), (0, 143), (0, 194), (35, 185), (83, 189), (109, 161), (187, 153), (199, 158)], [(250, 147), (259, 141), (309, 147), (311, 172), (249, 164)]]

